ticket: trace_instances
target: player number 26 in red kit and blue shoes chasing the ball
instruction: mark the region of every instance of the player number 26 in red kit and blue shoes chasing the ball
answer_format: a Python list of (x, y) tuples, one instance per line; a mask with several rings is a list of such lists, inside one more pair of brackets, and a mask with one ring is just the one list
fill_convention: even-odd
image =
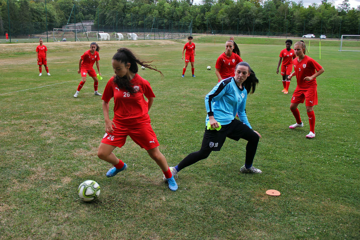
[[(166, 176), (170, 190), (176, 191), (177, 184), (166, 158), (159, 151), (159, 142), (151, 127), (148, 114), (155, 95), (150, 83), (137, 73), (138, 64), (161, 73), (147, 63), (150, 62), (141, 62), (130, 49), (125, 47), (118, 49), (113, 56), (112, 67), (115, 75), (106, 84), (102, 96), (106, 133), (100, 143), (98, 157), (114, 165), (106, 173), (107, 177), (113, 177), (125, 170), (127, 165), (116, 157), (113, 150), (116, 147), (121, 148), (125, 144), (126, 137), (130, 136), (136, 144), (147, 150)], [(114, 98), (112, 121), (109, 119), (111, 98)]]

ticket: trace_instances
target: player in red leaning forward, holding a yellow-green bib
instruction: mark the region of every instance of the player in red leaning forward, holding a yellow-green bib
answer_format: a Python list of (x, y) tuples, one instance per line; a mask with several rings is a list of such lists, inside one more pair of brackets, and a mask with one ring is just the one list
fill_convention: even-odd
[(76, 93), (74, 94), (74, 98), (77, 98), (82, 86), (84, 86), (86, 82), (86, 74), (89, 74), (89, 76), (94, 79), (94, 95), (98, 95), (98, 96), (102, 95), (98, 92), (99, 81), (96, 76), (96, 72), (93, 68), (94, 63), (96, 63), (96, 68), (98, 68), (99, 75), (101, 76), (100, 66), (99, 66), (99, 60), (100, 60), (99, 50), (100, 50), (99, 45), (96, 44), (96, 42), (91, 42), (90, 50), (87, 50), (80, 57), (79, 69), (77, 70), (77, 73), (81, 74), (81, 82), (77, 86), (77, 90)]

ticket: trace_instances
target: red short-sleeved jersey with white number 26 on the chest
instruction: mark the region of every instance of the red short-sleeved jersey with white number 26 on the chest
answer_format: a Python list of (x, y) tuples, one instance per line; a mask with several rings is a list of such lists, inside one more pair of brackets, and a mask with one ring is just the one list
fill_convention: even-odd
[(155, 98), (150, 83), (137, 73), (130, 82), (136, 90), (134, 94), (131, 94), (126, 89), (119, 89), (117, 84), (114, 83), (114, 77), (110, 78), (101, 99), (109, 102), (114, 97), (113, 122), (116, 127), (140, 128), (149, 126), (149, 108), (144, 95), (146, 98)]

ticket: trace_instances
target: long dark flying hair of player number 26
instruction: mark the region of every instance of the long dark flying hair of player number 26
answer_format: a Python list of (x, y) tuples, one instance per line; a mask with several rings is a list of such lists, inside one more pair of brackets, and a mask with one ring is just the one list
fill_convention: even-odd
[[(164, 76), (161, 71), (159, 71), (154, 65), (147, 64), (151, 63), (152, 61), (140, 61), (139, 58), (132, 53), (132, 51), (126, 47), (121, 47), (117, 50), (117, 53), (114, 54), (113, 60), (116, 60), (118, 62), (121, 62), (123, 64), (130, 63), (129, 71), (133, 73), (137, 73), (139, 71), (138, 64), (141, 66), (144, 66), (145, 68), (149, 68), (152, 70), (155, 70), (161, 74), (161, 76)], [(131, 94), (134, 94), (136, 91), (132, 87), (131, 79), (128, 79), (127, 76), (119, 77), (117, 75), (114, 76), (114, 83), (119, 88), (126, 89)]]

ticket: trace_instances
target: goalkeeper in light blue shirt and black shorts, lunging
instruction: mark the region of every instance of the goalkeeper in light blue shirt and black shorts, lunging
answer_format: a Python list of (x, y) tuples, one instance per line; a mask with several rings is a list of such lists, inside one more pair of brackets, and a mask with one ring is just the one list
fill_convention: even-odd
[[(206, 95), (207, 110), (206, 130), (201, 149), (190, 153), (177, 166), (170, 167), (174, 177), (177, 172), (199, 160), (207, 158), (211, 151), (220, 151), (226, 137), (239, 141), (248, 141), (246, 145), (245, 164), (240, 168), (242, 173), (262, 173), (252, 166), (260, 133), (252, 130), (245, 112), (247, 94), (253, 93), (259, 80), (246, 62), (240, 62), (235, 67), (235, 76), (229, 77), (217, 85)], [(239, 119), (235, 119), (238, 113)]]

